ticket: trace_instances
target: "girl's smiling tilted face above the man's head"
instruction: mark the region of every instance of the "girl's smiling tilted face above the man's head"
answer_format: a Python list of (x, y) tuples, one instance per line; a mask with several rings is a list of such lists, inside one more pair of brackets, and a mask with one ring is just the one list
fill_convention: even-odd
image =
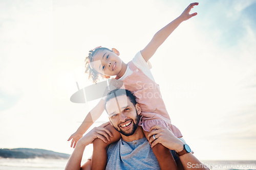
[(102, 75), (117, 76), (122, 69), (122, 60), (118, 55), (113, 51), (99, 51), (93, 56), (91, 65)]

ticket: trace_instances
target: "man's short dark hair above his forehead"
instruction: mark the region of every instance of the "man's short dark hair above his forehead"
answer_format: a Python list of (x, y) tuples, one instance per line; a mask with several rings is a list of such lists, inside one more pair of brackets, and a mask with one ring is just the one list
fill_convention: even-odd
[(126, 89), (115, 89), (115, 90), (112, 90), (108, 93), (108, 95), (106, 95), (106, 98), (105, 98), (105, 104), (104, 104), (104, 107), (105, 107), (105, 110), (106, 110), (106, 102), (108, 102), (109, 100), (113, 99), (113, 98), (116, 98), (117, 96), (120, 96), (120, 95), (126, 95), (127, 98), (130, 99), (130, 101), (133, 103), (133, 105), (135, 106), (136, 105), (136, 98), (135, 96), (132, 94), (131, 91), (129, 90), (126, 90)]

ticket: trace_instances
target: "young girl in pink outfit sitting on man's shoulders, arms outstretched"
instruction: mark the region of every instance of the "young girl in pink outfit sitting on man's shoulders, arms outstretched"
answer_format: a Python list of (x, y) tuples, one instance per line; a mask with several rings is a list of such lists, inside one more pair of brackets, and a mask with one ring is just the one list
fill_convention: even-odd
[[(182, 137), (179, 129), (170, 122), (169, 115), (161, 98), (159, 85), (155, 83), (150, 72), (151, 64), (148, 60), (182, 21), (197, 15), (197, 13), (189, 14), (191, 8), (194, 8), (196, 5), (198, 5), (198, 3), (190, 4), (178, 18), (158, 31), (150, 43), (148, 43), (143, 50), (138, 52), (134, 59), (127, 64), (118, 57), (119, 52), (115, 48), (109, 50), (108, 48), (97, 47), (90, 51), (89, 56), (86, 58), (86, 72), (93, 82), (96, 83), (102, 76), (105, 78), (116, 76), (116, 80), (111, 81), (112, 85), (116, 86), (116, 88), (125, 88), (133, 92), (134, 96), (137, 98), (136, 102), (140, 104), (142, 109), (139, 125), (143, 128), (147, 139), (147, 134), (150, 132), (151, 127), (156, 124), (166, 127), (172, 131), (176, 137)], [(93, 124), (93, 119), (97, 119), (102, 114), (103, 110), (104, 100), (101, 99), (96, 107), (86, 116), (78, 130), (68, 139), (71, 140), (73, 138), (71, 147), (74, 144), (75, 148), (76, 142)], [(101, 139), (94, 140), (92, 157), (93, 169), (105, 168), (107, 157), (106, 152), (102, 152), (102, 150), (105, 151), (107, 145), (119, 140), (121, 137), (111, 125), (106, 128), (111, 130), (113, 136), (111, 136), (110, 141), (107, 142), (103, 142)], [(157, 138), (157, 136), (155, 137)], [(152, 149), (161, 169), (173, 168), (169, 165), (174, 159), (167, 148), (159, 143)]]

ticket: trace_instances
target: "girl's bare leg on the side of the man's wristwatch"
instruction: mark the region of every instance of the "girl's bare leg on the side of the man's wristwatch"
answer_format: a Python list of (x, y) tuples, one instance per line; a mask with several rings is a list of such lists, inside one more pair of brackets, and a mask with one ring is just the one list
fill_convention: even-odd
[[(147, 134), (149, 132), (144, 130), (143, 132), (148, 140)], [(152, 150), (158, 160), (161, 170), (167, 170), (167, 169), (177, 170), (178, 169), (177, 164), (174, 160), (174, 157), (172, 153), (170, 153), (170, 150), (168, 148), (165, 148), (161, 143), (157, 143), (152, 148)]]

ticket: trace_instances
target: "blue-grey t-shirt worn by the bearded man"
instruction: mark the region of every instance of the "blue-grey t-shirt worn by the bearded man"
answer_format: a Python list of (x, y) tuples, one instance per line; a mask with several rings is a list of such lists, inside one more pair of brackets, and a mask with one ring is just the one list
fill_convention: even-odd
[[(179, 157), (170, 150), (175, 160)], [(126, 142), (122, 138), (106, 149), (108, 160), (106, 169), (160, 169), (150, 143), (143, 137)]]

